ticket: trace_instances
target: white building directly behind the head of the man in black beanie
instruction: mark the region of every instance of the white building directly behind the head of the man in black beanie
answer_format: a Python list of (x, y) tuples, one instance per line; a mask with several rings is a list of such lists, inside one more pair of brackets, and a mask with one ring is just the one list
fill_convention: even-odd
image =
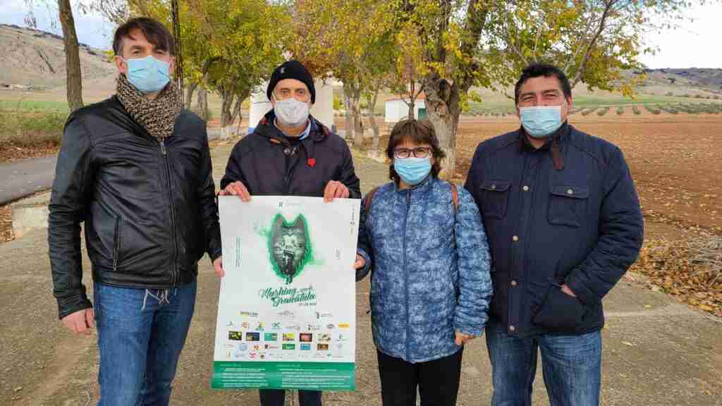
[[(324, 84), (321, 80), (317, 80), (314, 85), (316, 87), (316, 103), (311, 107), (311, 116), (316, 117), (330, 129), (334, 125), (334, 87), (330, 82)], [(264, 118), (272, 108), (271, 101), (266, 98), (266, 87), (268, 87), (268, 82), (251, 94), (251, 103), (248, 106), (248, 134), (256, 129), (258, 121), (261, 121), (261, 118)]]

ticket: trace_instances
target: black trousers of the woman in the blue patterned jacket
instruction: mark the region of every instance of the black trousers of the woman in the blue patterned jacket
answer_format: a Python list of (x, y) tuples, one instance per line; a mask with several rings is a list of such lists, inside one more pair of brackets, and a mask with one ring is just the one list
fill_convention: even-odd
[(376, 353), (383, 406), (416, 406), (417, 387), (422, 406), (456, 405), (464, 347), (456, 354), (422, 363)]

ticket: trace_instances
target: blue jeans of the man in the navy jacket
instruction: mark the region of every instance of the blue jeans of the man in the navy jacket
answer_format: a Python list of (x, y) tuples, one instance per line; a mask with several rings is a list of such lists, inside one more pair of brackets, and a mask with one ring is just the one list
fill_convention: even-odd
[(598, 406), (601, 386), (601, 332), (540, 334), (519, 338), (496, 321), (487, 324), (492, 363), (492, 406), (530, 406), (536, 357), (552, 406)]

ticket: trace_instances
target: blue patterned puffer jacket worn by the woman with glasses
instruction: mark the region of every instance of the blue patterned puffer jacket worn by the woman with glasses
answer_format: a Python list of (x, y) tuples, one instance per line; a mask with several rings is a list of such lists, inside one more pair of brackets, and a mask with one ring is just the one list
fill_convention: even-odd
[(362, 213), (373, 340), (386, 355), (435, 360), (458, 351), (454, 330), (482, 334), (492, 296), (489, 248), (477, 204), (457, 189), (458, 212), (446, 181), (429, 176), (406, 190), (388, 183)]

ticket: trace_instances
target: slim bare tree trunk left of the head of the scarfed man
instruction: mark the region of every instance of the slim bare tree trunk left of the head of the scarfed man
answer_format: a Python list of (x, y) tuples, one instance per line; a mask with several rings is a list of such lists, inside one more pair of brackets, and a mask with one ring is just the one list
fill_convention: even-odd
[(70, 111), (76, 111), (83, 106), (83, 85), (78, 36), (75, 33), (75, 20), (73, 10), (70, 8), (70, 0), (58, 0), (58, 15), (63, 27), (68, 106)]

